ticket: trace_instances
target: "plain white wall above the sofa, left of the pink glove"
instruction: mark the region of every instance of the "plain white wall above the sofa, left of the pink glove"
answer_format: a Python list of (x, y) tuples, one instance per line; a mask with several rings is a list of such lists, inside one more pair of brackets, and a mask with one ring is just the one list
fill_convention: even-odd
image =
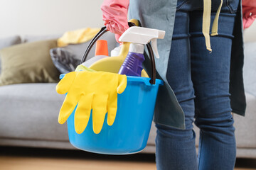
[(102, 27), (102, 0), (0, 0), (0, 37)]

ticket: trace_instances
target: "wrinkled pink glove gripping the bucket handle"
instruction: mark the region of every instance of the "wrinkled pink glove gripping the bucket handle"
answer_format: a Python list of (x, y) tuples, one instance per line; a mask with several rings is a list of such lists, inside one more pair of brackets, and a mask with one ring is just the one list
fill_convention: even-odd
[(103, 20), (107, 30), (119, 37), (129, 28), (127, 21), (129, 0), (104, 0), (100, 7), (103, 13)]

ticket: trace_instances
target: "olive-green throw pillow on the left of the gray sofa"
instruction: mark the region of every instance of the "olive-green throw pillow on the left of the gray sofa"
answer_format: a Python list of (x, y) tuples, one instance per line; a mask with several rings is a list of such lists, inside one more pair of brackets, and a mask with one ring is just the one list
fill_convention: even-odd
[(57, 47), (56, 40), (44, 40), (0, 50), (0, 86), (58, 82), (60, 72), (50, 58), (50, 49), (54, 47)]

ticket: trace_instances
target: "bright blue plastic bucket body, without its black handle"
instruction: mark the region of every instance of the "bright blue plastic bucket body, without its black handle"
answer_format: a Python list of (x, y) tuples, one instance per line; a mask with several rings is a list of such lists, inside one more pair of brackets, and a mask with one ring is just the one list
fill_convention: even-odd
[(90, 120), (81, 134), (75, 132), (75, 110), (68, 118), (70, 143), (78, 149), (100, 154), (132, 154), (146, 147), (154, 115), (159, 85), (149, 83), (150, 78), (127, 77), (127, 88), (117, 98), (117, 115), (112, 126), (107, 125), (107, 115), (102, 130), (95, 134)]

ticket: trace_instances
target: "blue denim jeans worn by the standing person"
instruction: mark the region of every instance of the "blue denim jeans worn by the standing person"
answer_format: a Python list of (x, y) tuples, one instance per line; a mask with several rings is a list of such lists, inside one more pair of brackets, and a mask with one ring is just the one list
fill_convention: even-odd
[[(228, 0), (223, 4), (225, 1)], [(183, 2), (183, 6), (181, 3), (177, 6), (166, 77), (185, 113), (186, 130), (156, 124), (156, 167), (159, 170), (231, 170), (236, 157), (229, 94), (235, 11), (227, 4), (223, 6), (219, 34), (210, 37), (213, 49), (210, 53), (202, 34), (203, 11), (196, 7), (200, 3)], [(233, 6), (236, 5), (235, 0)], [(211, 15), (213, 22), (214, 9)], [(200, 128), (198, 156), (193, 122)]]

